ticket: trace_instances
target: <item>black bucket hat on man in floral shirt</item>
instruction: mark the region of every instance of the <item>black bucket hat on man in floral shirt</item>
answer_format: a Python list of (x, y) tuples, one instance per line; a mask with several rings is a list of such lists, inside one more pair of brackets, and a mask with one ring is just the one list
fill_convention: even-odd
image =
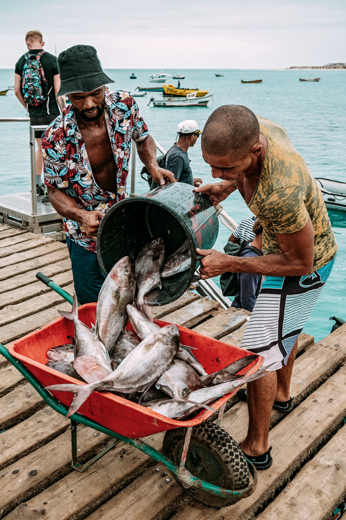
[(60, 88), (57, 96), (73, 92), (92, 92), (107, 83), (114, 83), (101, 69), (95, 47), (74, 45), (58, 56)]

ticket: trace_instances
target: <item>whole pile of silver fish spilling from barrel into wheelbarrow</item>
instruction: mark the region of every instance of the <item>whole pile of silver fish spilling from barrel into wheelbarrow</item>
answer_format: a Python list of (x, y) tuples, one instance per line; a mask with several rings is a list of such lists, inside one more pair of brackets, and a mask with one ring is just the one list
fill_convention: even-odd
[[(248, 377), (239, 375), (246, 367), (250, 369), (257, 355), (208, 374), (193, 354), (194, 349), (180, 343), (175, 325), (159, 327), (150, 320), (145, 296), (161, 288), (163, 257), (164, 244), (157, 238), (142, 248), (134, 266), (128, 256), (113, 266), (99, 293), (95, 330), (79, 319), (76, 297), (71, 313), (58, 311), (74, 323), (74, 344), (48, 350), (48, 366), (87, 383), (47, 386), (48, 390), (73, 392), (67, 417), (78, 411), (92, 392), (107, 391), (166, 417), (185, 419), (264, 375), (265, 371)], [(166, 271), (170, 270), (169, 261), (164, 266)], [(176, 257), (171, 267), (176, 268)], [(136, 285), (137, 297), (132, 305)], [(129, 320), (132, 330), (126, 328)]]

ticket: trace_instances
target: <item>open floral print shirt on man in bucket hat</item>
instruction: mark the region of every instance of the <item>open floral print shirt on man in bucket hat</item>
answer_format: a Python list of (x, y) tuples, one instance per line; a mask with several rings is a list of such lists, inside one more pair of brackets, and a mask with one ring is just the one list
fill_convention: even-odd
[[(117, 166), (117, 194), (96, 184), (72, 105), (50, 123), (41, 141), (45, 184), (65, 190), (83, 210), (104, 213), (118, 200), (128, 197), (126, 178), (131, 139), (143, 141), (148, 135), (137, 103), (127, 92), (119, 90), (106, 95), (105, 119)], [(63, 222), (69, 239), (96, 252), (96, 241), (86, 235), (82, 224), (65, 217)]]

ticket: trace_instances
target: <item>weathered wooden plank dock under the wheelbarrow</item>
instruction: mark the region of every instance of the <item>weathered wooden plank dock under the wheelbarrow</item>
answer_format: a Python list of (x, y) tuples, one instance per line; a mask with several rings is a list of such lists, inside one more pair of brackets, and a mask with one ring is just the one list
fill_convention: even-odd
[[(0, 225), (0, 342), (9, 344), (70, 305), (37, 281), (42, 271), (68, 292), (66, 245)], [(249, 313), (193, 292), (155, 308), (155, 316), (240, 345)], [(6, 520), (309, 520), (331, 519), (346, 496), (346, 324), (314, 343), (301, 334), (288, 415), (272, 412), (274, 463), (259, 472), (253, 495), (228, 508), (196, 502), (162, 464), (120, 443), (85, 473), (71, 468), (70, 421), (53, 411), (21, 374), (0, 359), (0, 518)], [(230, 401), (222, 427), (237, 442), (247, 406)], [(113, 439), (79, 426), (86, 462)], [(163, 434), (145, 440), (160, 449)]]

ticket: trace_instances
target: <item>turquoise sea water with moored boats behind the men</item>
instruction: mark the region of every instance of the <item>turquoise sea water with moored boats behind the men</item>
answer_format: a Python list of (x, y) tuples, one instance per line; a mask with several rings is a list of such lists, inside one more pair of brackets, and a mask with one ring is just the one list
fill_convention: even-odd
[[(111, 88), (129, 90), (137, 85), (149, 85), (149, 74), (156, 70), (107, 70), (116, 82)], [(137, 80), (129, 76), (135, 72)], [(184, 73), (181, 86), (210, 90), (213, 102), (203, 108), (153, 108), (147, 103), (147, 94), (136, 98), (140, 111), (151, 135), (164, 147), (174, 142), (176, 126), (184, 119), (196, 119), (200, 128), (211, 112), (221, 105), (235, 103), (246, 105), (256, 114), (283, 125), (294, 146), (303, 155), (314, 177), (326, 177), (345, 181), (346, 158), (346, 71), (328, 70), (180, 70), (165, 72)], [(221, 72), (224, 77), (215, 77)], [(13, 71), (0, 70), (0, 90), (13, 85)], [(320, 76), (318, 83), (302, 83), (299, 77)], [(241, 84), (240, 80), (262, 79), (261, 84)], [(177, 80), (172, 80), (176, 85)], [(152, 85), (152, 84), (151, 84)], [(0, 96), (0, 117), (25, 116), (13, 90)], [(28, 123), (0, 124), (0, 193), (15, 193), (30, 190), (30, 155)], [(200, 140), (189, 149), (191, 167), (195, 176), (204, 183), (211, 180), (210, 168), (201, 157)], [(141, 163), (137, 160), (136, 192), (147, 191), (147, 184), (139, 176)], [(130, 188), (130, 186), (129, 186)], [(238, 192), (224, 203), (227, 213), (237, 222), (250, 214)], [(315, 339), (325, 337), (331, 328), (329, 316), (346, 319), (346, 213), (329, 212), (339, 245), (336, 265), (322, 291), (317, 305), (307, 322), (304, 332)], [(220, 227), (215, 244), (222, 250), (229, 236), (225, 227)], [(217, 280), (216, 280), (217, 281)]]

